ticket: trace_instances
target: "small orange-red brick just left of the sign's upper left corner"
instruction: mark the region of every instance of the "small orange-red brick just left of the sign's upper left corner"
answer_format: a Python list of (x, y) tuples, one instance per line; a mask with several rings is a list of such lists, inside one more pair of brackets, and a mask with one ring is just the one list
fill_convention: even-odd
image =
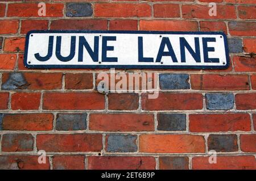
[(6, 52), (24, 52), (25, 38), (24, 37), (9, 37), (5, 39), (3, 50)]

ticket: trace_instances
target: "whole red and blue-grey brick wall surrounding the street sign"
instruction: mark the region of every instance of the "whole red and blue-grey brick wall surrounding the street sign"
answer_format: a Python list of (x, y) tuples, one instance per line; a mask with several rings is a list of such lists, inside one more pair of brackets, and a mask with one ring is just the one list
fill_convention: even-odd
[[(256, 169), (255, 4), (0, 0), (0, 169)], [(25, 68), (30, 30), (223, 31), (231, 65), (142, 70), (159, 76), (157, 99), (100, 94), (101, 70)]]

